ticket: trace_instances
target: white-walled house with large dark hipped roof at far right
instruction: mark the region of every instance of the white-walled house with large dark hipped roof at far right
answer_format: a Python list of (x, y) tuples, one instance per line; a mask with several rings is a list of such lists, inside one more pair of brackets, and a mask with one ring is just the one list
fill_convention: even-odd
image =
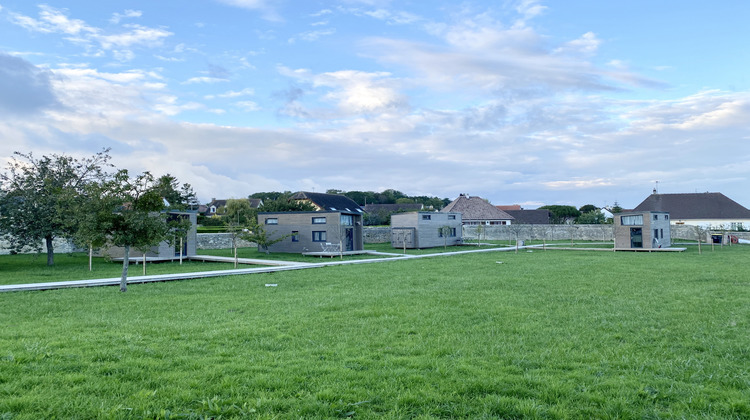
[(742, 230), (750, 210), (722, 193), (651, 194), (633, 211), (669, 212), (673, 224)]

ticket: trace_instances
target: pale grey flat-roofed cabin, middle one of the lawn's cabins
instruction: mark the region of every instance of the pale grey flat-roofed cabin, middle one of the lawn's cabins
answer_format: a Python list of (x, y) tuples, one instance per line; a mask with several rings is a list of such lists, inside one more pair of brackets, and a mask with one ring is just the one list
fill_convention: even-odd
[(462, 242), (461, 213), (411, 212), (391, 215), (391, 246), (434, 248)]

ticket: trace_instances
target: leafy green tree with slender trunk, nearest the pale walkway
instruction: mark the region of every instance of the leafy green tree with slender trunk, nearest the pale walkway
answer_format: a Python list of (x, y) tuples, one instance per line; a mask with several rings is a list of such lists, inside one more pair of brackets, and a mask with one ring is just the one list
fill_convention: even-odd
[(88, 199), (92, 217), (81, 226), (80, 240), (123, 248), (120, 291), (125, 292), (131, 248), (146, 252), (173, 238), (174, 224), (167, 220), (158, 182), (149, 172), (131, 177), (123, 169), (112, 179), (92, 186)]

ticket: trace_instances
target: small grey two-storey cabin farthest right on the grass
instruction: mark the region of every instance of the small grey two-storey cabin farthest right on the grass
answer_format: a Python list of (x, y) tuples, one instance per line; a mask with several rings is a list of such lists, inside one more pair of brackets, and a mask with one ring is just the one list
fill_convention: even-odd
[(617, 250), (669, 248), (672, 244), (668, 212), (616, 213), (614, 222)]

